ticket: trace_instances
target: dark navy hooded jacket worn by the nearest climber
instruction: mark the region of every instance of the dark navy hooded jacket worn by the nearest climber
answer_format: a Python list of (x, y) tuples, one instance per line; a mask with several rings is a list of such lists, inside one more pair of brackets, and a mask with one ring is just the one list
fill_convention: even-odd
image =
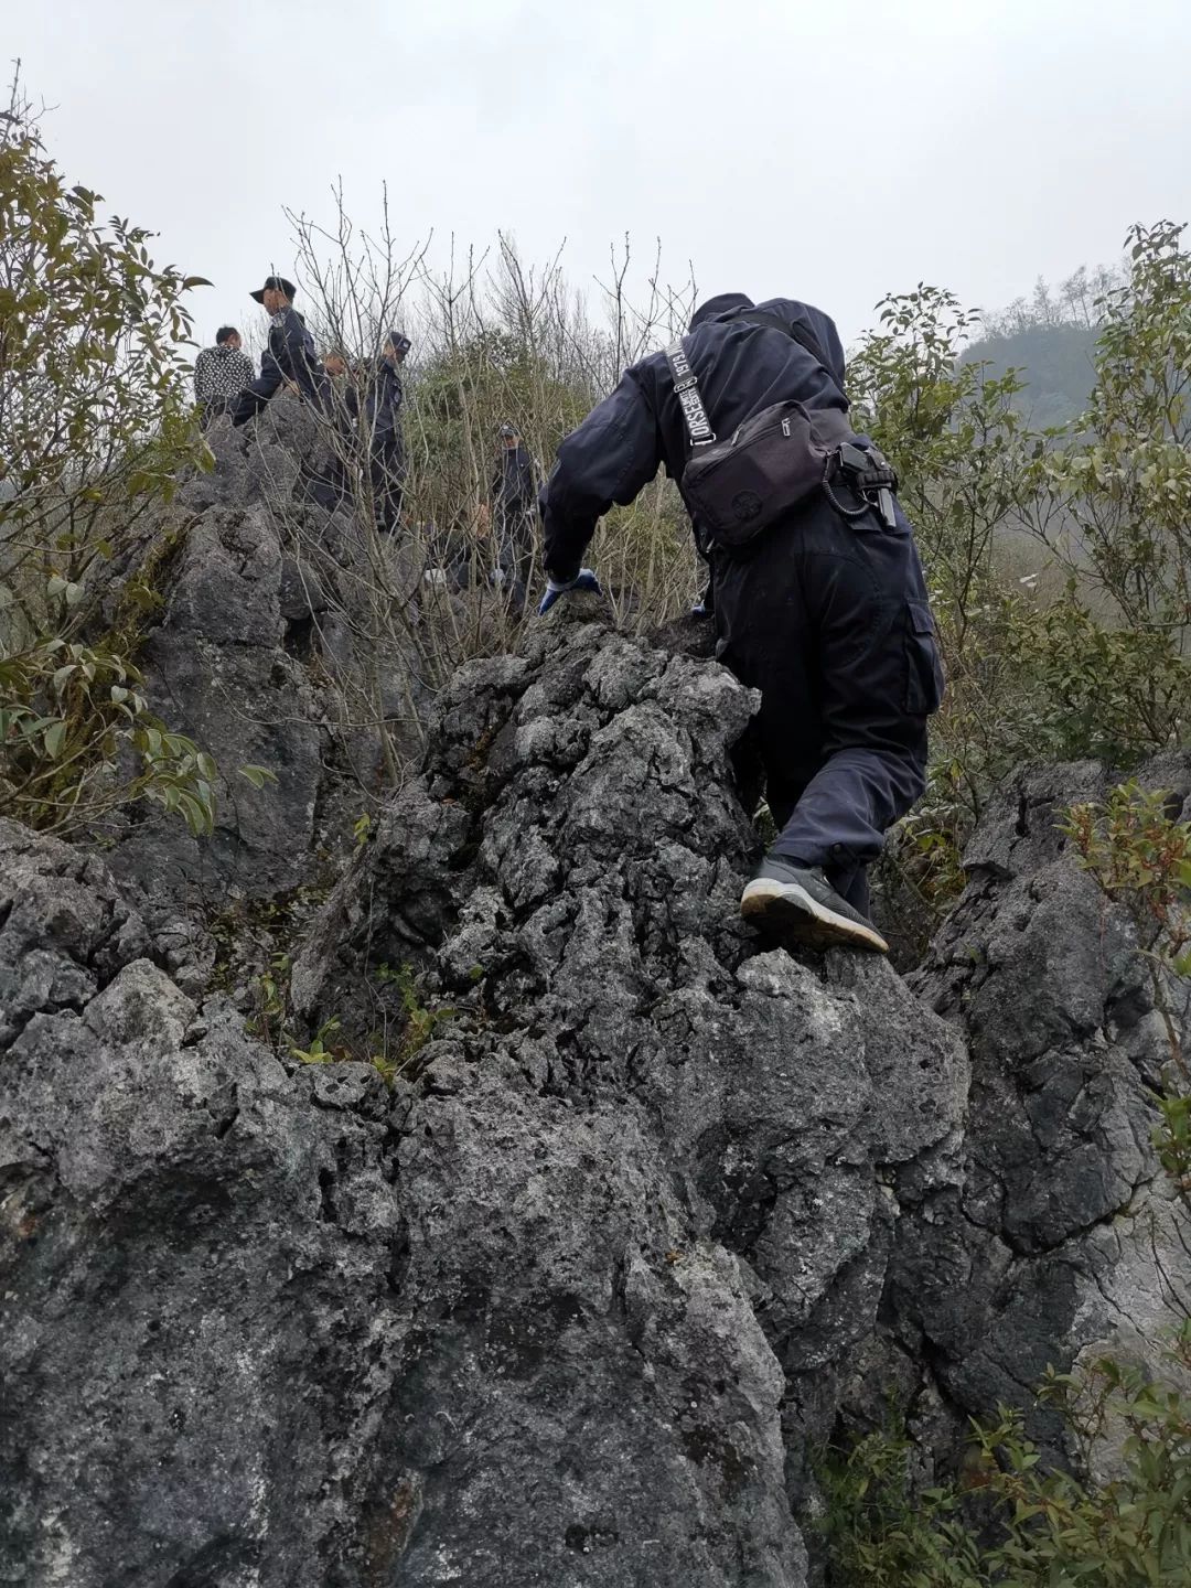
[[(818, 343), (819, 362), (799, 341), (772, 326), (735, 319), (757, 308), (800, 322)], [(743, 292), (705, 303), (684, 338), (711, 426), (730, 435), (770, 403), (797, 399), (807, 408), (848, 411), (843, 395), (843, 345), (834, 322), (796, 299), (753, 305)], [(665, 354), (653, 353), (624, 372), (616, 391), (592, 408), (559, 448), (554, 472), (542, 492), (546, 573), (573, 578), (613, 502), (627, 505), (665, 464), (681, 484), (691, 443), (675, 395)]]

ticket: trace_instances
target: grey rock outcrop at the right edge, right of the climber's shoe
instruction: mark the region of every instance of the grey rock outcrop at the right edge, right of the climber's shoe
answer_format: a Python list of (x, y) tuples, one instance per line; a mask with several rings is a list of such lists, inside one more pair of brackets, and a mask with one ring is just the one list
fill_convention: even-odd
[[(1120, 778), (1096, 762), (1026, 769), (966, 854), (967, 889), (912, 977), (972, 1056), (954, 1183), (899, 1221), (886, 1316), (953, 1413), (1034, 1405), (1046, 1366), (1107, 1350), (1154, 1366), (1191, 1301), (1191, 1221), (1151, 1135), (1172, 1073), (1166, 1021), (1127, 915), (1069, 854), (1064, 810)], [(1186, 810), (1191, 757), (1142, 773)], [(1191, 1032), (1191, 989), (1169, 983)], [(929, 1405), (931, 1396), (926, 1397)], [(962, 1432), (962, 1423), (956, 1429)]]

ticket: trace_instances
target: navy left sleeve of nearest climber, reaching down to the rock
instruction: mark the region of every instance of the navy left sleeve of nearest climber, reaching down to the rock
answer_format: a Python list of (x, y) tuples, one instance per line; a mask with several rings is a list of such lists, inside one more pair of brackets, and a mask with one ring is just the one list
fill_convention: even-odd
[(592, 408), (559, 446), (542, 497), (546, 573), (573, 580), (596, 522), (613, 502), (627, 507), (662, 461), (657, 421), (629, 370), (616, 391)]

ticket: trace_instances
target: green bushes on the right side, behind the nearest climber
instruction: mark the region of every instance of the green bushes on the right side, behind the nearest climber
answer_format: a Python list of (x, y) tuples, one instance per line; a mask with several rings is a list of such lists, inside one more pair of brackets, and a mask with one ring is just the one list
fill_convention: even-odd
[[(967, 345), (935, 287), (892, 297), (851, 364), (859, 421), (918, 530), (948, 675), (927, 796), (894, 850), (942, 907), (991, 788), (1021, 759), (1121, 767), (1178, 743), (1191, 699), (1191, 256), (1134, 227), (1072, 303), (1097, 333), (1086, 413), (1031, 432), (1021, 372)], [(1054, 305), (1039, 316), (1050, 322)], [(1045, 313), (1043, 313), (1045, 311)], [(1035, 316), (1035, 318), (1039, 318)]]

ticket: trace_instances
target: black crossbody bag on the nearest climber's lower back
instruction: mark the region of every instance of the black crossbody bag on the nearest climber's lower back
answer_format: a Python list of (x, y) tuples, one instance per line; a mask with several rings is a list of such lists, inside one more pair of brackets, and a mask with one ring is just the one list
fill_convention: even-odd
[(726, 441), (699, 446), (683, 470), (683, 499), (708, 549), (740, 551), (788, 518), (853, 438), (838, 410), (791, 400), (764, 408)]

